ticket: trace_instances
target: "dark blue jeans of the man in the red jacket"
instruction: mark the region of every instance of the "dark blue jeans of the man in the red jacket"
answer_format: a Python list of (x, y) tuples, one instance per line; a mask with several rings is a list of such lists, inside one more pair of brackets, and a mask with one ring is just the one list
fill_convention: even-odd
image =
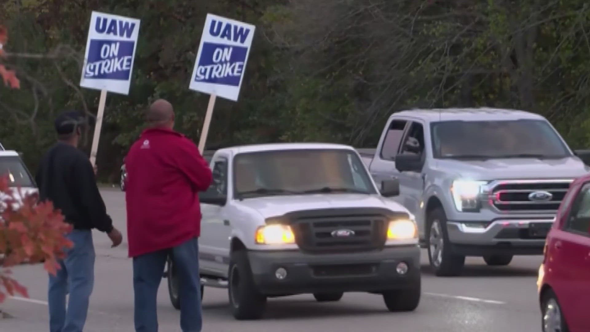
[(172, 255), (179, 278), (182, 332), (201, 332), (201, 278), (197, 237), (171, 249), (133, 258), (136, 332), (158, 332), (158, 288), (169, 255)]

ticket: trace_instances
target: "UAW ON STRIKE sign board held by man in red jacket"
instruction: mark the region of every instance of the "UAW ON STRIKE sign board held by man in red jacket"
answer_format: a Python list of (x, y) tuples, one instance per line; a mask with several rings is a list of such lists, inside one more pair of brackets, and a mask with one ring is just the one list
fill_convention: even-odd
[(238, 100), (254, 25), (207, 14), (189, 89)]

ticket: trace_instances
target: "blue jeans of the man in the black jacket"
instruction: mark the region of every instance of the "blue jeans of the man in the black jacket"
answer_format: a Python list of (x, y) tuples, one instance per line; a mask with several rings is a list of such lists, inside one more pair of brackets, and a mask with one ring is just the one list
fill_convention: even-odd
[[(73, 230), (68, 239), (73, 248), (60, 261), (56, 275), (49, 275), (49, 325), (51, 332), (82, 332), (90, 294), (94, 287), (94, 243), (91, 230)], [(68, 289), (69, 288), (69, 289)], [(70, 293), (67, 310), (65, 295)]]

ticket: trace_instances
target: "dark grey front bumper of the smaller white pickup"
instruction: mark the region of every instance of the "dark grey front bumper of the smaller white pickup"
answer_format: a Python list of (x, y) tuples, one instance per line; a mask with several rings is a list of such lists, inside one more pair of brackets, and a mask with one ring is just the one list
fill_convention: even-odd
[[(316, 292), (382, 292), (420, 282), (418, 245), (389, 246), (375, 252), (310, 255), (299, 250), (248, 252), (254, 282), (265, 295)], [(398, 274), (398, 263), (408, 265)], [(284, 268), (284, 279), (276, 270)]]

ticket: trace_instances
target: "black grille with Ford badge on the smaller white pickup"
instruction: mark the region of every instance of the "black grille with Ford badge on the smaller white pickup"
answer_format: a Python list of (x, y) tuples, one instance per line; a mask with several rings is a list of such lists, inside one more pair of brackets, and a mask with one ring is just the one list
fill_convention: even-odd
[(389, 218), (373, 215), (316, 215), (291, 223), (297, 245), (310, 253), (358, 252), (382, 248)]

